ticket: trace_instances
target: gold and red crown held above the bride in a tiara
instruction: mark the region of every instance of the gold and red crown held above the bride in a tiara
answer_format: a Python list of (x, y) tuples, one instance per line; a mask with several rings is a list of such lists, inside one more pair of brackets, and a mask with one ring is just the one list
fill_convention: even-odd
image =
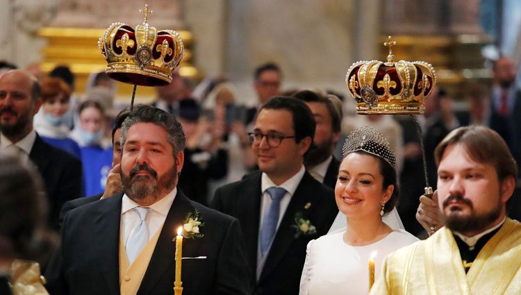
[(356, 100), (357, 114), (423, 114), (424, 99), (436, 85), (436, 71), (427, 62), (395, 62), (388, 37), (387, 62), (354, 62), (345, 76), (349, 93)]

